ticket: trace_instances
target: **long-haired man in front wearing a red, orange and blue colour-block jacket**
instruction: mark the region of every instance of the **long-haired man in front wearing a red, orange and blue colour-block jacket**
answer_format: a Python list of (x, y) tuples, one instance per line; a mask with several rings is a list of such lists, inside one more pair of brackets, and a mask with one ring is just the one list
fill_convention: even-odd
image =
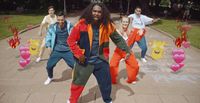
[(92, 3), (83, 12), (72, 29), (67, 43), (75, 56), (71, 96), (68, 103), (77, 103), (84, 86), (93, 73), (97, 79), (103, 100), (112, 103), (111, 76), (109, 69), (109, 38), (118, 48), (130, 50), (124, 39), (116, 32), (110, 13), (102, 3)]

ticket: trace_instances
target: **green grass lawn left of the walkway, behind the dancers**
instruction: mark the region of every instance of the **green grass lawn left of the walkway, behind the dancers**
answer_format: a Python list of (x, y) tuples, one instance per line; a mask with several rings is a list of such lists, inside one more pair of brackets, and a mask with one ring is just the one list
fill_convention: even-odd
[(0, 15), (0, 40), (12, 36), (9, 25), (16, 26), (19, 30), (23, 30), (27, 25), (40, 24), (44, 15), (6, 15), (10, 19), (5, 22), (2, 18), (5, 15)]

